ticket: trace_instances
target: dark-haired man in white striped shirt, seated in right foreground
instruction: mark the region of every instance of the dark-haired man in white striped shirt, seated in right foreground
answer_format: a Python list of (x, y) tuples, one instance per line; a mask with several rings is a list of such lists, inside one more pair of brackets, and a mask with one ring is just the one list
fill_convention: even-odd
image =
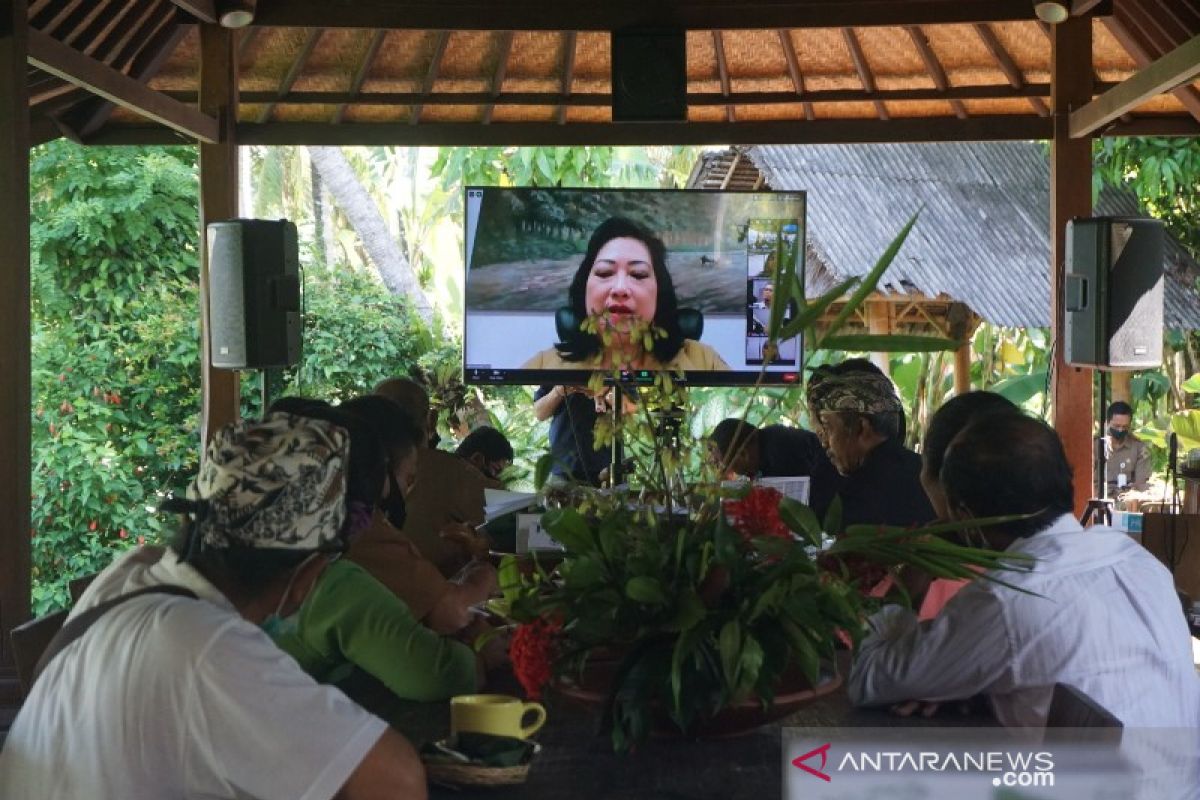
[(1028, 515), (982, 535), (1034, 563), (992, 573), (1022, 591), (977, 579), (928, 622), (898, 606), (871, 616), (850, 674), (853, 703), (982, 692), (1001, 723), (1036, 728), (1062, 682), (1127, 728), (1200, 726), (1200, 679), (1171, 576), (1129, 536), (1079, 525), (1054, 431), (1015, 414), (983, 416), (950, 444), (941, 483), (955, 518)]

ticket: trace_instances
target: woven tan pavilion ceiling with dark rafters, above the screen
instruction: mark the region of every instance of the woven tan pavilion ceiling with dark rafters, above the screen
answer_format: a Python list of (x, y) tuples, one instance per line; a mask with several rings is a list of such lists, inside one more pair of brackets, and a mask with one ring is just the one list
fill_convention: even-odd
[[(134, 107), (194, 108), (196, 23), (228, 5), (29, 0), (35, 139), (170, 140), (96, 95), (132, 97), (125, 77), (160, 97)], [(1094, 14), (1097, 95), (1200, 31), (1200, 0), (1075, 5)], [(247, 144), (1031, 139), (1051, 126), (1050, 29), (1030, 0), (257, 6), (235, 38)], [(612, 121), (611, 31), (648, 24), (686, 31), (686, 122)], [(1105, 132), (1194, 132), (1196, 119), (1200, 92), (1184, 84)]]

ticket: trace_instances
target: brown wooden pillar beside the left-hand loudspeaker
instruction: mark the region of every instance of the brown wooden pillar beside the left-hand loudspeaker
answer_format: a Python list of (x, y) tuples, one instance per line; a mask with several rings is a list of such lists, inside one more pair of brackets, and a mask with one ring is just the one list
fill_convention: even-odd
[(217, 118), (220, 142), (200, 144), (200, 441), (238, 419), (238, 373), (215, 369), (209, 330), (208, 223), (238, 216), (236, 55), (233, 31), (200, 25), (200, 110)]

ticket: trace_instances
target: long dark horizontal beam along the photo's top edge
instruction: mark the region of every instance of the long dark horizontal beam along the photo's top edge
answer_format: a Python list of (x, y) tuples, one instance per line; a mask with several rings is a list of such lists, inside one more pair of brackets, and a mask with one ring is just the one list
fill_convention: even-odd
[(395, 30), (611, 31), (655, 25), (684, 30), (938, 25), (1034, 19), (1030, 0), (743, 0), (706, 2), (562, 2), (560, 0), (392, 0), (338, 4), (287, 0), (263, 4), (256, 25), (386, 28)]

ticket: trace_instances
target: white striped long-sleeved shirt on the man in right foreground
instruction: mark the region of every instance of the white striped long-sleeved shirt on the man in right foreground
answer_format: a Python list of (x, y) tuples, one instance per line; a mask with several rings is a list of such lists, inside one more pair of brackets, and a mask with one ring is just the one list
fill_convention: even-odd
[(857, 705), (949, 700), (984, 692), (1004, 726), (1043, 727), (1056, 682), (1069, 684), (1126, 727), (1200, 726), (1200, 678), (1166, 569), (1111, 528), (1070, 516), (1014, 542), (1030, 572), (996, 571), (918, 624), (888, 606), (870, 619), (850, 673)]

